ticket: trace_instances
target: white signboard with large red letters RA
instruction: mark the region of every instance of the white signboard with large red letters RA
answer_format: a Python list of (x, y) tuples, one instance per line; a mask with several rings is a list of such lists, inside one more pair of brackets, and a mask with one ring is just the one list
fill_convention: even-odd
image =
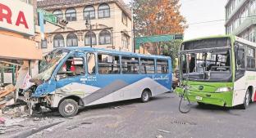
[(33, 6), (21, 1), (0, 0), (0, 29), (34, 35)]

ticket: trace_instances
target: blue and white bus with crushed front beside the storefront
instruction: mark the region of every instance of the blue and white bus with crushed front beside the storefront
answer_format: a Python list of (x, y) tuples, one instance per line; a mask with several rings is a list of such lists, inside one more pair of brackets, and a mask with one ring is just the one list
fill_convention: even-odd
[(171, 58), (89, 47), (61, 48), (44, 56), (39, 75), (25, 91), (30, 107), (58, 109), (63, 117), (79, 106), (141, 98), (171, 91)]

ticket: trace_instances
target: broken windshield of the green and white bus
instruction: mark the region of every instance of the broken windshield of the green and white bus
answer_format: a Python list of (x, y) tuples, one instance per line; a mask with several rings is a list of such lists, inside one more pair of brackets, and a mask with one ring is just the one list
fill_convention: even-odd
[(205, 51), (181, 55), (183, 78), (194, 81), (231, 81), (230, 51)]

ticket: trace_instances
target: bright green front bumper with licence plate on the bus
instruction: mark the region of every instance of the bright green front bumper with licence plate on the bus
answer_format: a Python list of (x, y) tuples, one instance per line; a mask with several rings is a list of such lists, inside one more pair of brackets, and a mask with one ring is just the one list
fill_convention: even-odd
[[(176, 88), (176, 93), (181, 96), (184, 89)], [(189, 91), (188, 98), (191, 102), (200, 102), (209, 105), (218, 105), (225, 107), (232, 107), (232, 91), (214, 93), (214, 92), (199, 92), (199, 91)]]

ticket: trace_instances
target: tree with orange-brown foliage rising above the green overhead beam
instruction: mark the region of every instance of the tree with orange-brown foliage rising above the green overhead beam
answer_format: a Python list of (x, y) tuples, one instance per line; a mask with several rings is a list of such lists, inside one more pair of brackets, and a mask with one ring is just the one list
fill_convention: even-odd
[(135, 0), (135, 36), (184, 33), (186, 21), (180, 13), (180, 0)]

